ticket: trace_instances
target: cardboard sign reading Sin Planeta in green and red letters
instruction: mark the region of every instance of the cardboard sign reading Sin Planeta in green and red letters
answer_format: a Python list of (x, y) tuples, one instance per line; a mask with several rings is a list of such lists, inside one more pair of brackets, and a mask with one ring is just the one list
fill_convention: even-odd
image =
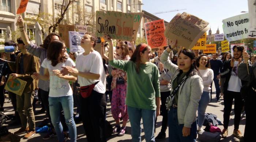
[(132, 40), (134, 13), (96, 11), (97, 37), (110, 35), (112, 39)]

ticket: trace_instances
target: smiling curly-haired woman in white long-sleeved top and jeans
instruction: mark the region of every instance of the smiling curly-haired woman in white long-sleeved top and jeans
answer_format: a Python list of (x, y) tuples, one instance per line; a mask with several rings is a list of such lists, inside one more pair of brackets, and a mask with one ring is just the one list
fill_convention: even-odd
[(210, 62), (207, 58), (207, 55), (205, 54), (200, 55), (196, 60), (196, 66), (199, 69), (199, 72), (201, 74), (201, 78), (203, 79), (203, 84), (204, 84), (203, 94), (199, 101), (199, 106), (197, 111), (198, 113), (197, 131), (203, 131), (202, 126), (205, 119), (204, 114), (206, 111), (206, 107), (211, 99), (210, 92), (211, 92), (211, 83), (213, 80), (213, 70), (208, 68), (209, 64)]

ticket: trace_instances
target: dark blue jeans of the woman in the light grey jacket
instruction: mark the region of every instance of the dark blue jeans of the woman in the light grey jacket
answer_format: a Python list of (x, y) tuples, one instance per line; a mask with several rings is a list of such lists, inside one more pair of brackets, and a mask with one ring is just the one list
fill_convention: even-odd
[(192, 123), (190, 135), (188, 137), (182, 136), (182, 129), (184, 124), (178, 123), (177, 107), (171, 107), (168, 112), (169, 123), (169, 142), (196, 142), (196, 121)]

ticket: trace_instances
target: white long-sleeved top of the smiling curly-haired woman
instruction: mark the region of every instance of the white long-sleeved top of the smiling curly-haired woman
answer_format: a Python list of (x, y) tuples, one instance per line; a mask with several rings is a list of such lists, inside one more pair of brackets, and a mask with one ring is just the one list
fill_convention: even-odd
[(199, 70), (201, 74), (201, 78), (203, 80), (204, 89), (205, 92), (211, 92), (211, 83), (213, 80), (213, 70), (210, 68), (207, 68), (206, 70)]

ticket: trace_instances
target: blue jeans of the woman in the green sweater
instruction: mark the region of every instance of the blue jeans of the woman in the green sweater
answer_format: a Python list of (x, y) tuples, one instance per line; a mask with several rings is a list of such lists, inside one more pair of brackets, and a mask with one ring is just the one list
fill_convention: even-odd
[(155, 142), (155, 110), (139, 109), (136, 107), (128, 106), (128, 115), (132, 127), (132, 142), (141, 142), (141, 118), (143, 121), (143, 129), (145, 132), (146, 142)]

